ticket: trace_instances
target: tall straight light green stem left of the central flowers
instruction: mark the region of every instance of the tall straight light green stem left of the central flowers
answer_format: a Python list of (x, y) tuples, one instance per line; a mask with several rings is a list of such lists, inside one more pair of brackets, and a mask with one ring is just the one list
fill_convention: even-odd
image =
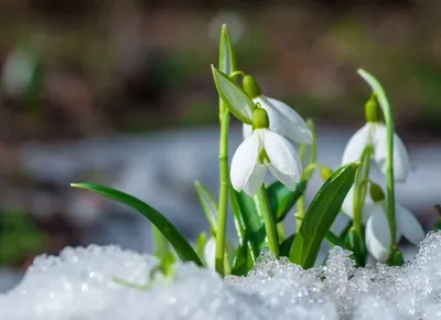
[[(223, 104), (223, 102), (220, 102)], [(223, 109), (223, 106), (219, 106)], [(228, 210), (228, 130), (229, 130), (229, 113), (226, 109), (220, 116), (220, 140), (219, 140), (219, 209), (217, 214), (216, 231), (216, 271), (225, 276), (225, 234), (227, 224)]]

